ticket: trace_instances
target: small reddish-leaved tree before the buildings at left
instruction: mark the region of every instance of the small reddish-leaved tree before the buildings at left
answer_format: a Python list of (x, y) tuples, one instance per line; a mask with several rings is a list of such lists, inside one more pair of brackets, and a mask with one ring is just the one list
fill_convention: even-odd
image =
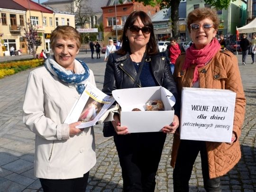
[(36, 58), (37, 54), (37, 48), (39, 45), (41, 45), (41, 37), (39, 37), (37, 33), (37, 27), (33, 26), (30, 22), (27, 23), (28, 30), (24, 28), (25, 30), (25, 36), (27, 40), (27, 48), (29, 50), (29, 54), (33, 55), (34, 58)]

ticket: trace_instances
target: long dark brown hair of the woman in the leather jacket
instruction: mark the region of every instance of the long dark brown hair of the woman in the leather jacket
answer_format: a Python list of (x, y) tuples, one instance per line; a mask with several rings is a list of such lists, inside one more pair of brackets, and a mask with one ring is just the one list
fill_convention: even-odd
[(126, 32), (128, 30), (128, 27), (133, 25), (138, 17), (141, 19), (144, 26), (149, 26), (152, 29), (149, 37), (149, 42), (146, 45), (146, 53), (153, 55), (158, 52), (157, 44), (155, 41), (154, 28), (150, 17), (144, 11), (134, 11), (129, 15), (125, 22), (124, 31), (121, 37), (122, 47), (117, 51), (118, 54), (125, 55), (127, 52), (130, 52), (130, 45), (129, 40), (126, 37)]

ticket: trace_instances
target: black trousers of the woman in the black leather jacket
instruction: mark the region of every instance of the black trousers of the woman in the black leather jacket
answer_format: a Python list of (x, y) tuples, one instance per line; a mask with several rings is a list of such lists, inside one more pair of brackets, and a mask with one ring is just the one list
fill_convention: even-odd
[(154, 192), (165, 138), (163, 132), (114, 136), (124, 192)]

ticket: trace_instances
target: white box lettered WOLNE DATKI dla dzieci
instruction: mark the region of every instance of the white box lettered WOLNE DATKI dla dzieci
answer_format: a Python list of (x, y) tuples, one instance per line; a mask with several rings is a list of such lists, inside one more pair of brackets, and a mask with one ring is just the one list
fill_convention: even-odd
[(183, 87), (180, 138), (231, 142), (236, 93)]

